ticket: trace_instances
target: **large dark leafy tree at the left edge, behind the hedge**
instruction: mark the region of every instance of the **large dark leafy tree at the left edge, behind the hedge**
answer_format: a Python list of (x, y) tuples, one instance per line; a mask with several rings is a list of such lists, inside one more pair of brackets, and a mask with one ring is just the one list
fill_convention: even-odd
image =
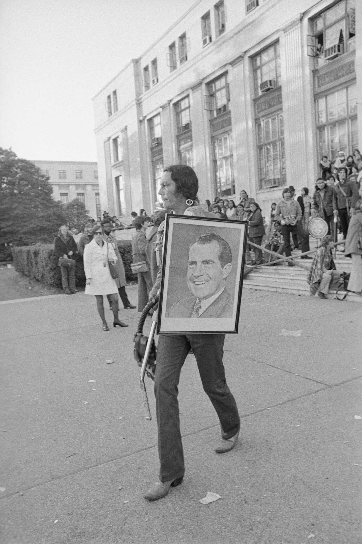
[(0, 147), (0, 244), (53, 242), (67, 215), (49, 178), (30, 160)]

